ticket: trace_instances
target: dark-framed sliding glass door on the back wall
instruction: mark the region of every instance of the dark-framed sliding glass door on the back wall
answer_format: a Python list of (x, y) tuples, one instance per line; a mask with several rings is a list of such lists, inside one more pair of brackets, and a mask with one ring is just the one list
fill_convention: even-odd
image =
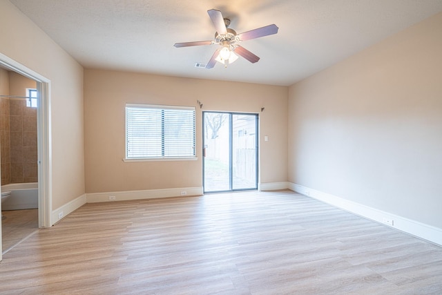
[(258, 189), (258, 114), (203, 112), (204, 193)]

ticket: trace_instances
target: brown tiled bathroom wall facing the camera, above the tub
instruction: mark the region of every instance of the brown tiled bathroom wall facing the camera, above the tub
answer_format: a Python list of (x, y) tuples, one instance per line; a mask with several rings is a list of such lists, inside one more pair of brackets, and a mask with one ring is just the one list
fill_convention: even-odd
[(19, 99), (9, 104), (10, 182), (37, 182), (37, 108)]

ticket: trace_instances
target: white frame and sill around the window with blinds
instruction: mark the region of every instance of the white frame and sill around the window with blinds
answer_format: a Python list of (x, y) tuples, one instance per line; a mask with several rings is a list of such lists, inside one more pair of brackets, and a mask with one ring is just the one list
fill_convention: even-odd
[[(156, 108), (159, 110), (188, 110), (193, 111), (193, 142), (195, 142), (193, 146), (193, 155), (189, 156), (165, 156), (158, 155), (155, 157), (128, 157), (128, 108)], [(129, 104), (126, 103), (124, 107), (124, 122), (125, 122), (125, 155), (124, 162), (156, 162), (156, 161), (189, 161), (189, 160), (198, 160), (196, 156), (196, 108), (194, 106), (170, 106), (170, 105), (162, 105), (162, 104)], [(163, 124), (163, 122), (162, 122)], [(164, 148), (164, 146), (163, 146)]]

